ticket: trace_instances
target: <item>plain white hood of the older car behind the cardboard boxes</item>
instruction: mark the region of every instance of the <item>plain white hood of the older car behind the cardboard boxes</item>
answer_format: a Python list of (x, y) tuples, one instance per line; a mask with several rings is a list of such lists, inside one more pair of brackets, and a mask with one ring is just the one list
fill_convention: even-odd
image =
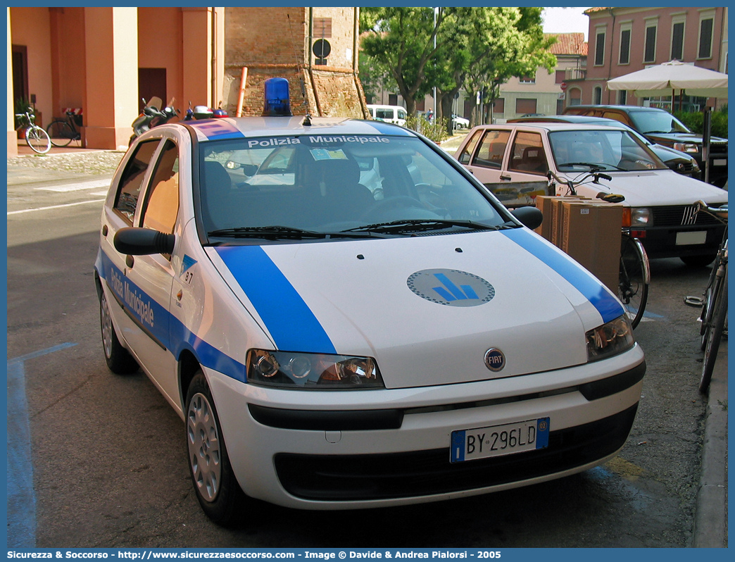
[[(709, 183), (700, 182), (675, 171), (606, 171), (612, 180), (578, 186), (578, 195), (595, 199), (598, 193), (619, 193), (625, 196), (625, 206), (663, 207), (690, 205), (700, 199), (709, 204), (728, 202), (728, 192)], [(573, 174), (564, 174), (570, 179)], [(576, 174), (578, 175), (578, 174)]]

